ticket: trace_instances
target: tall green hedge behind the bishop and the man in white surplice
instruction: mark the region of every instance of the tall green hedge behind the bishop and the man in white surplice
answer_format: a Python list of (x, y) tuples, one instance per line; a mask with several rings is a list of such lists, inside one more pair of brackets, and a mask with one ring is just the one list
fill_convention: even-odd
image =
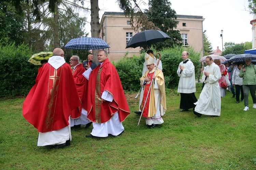
[[(169, 49), (164, 49), (159, 51), (161, 55), (161, 62), (163, 68), (163, 75), (165, 77), (166, 88), (177, 87), (179, 84), (179, 76), (177, 75), (177, 69), (179, 67), (182, 59), (182, 52), (189, 52), (189, 59), (194, 63), (196, 79), (200, 76), (200, 67), (201, 63), (198, 62), (200, 59), (200, 52), (195, 51), (193, 48), (185, 47), (174, 47)], [(157, 51), (154, 51), (156, 54)], [(144, 60), (144, 54), (140, 56), (133, 56), (132, 58), (126, 58), (125, 56), (114, 63), (114, 66), (117, 69), (120, 80), (122, 82), (124, 90), (128, 91), (138, 91), (140, 89), (140, 78), (142, 75), (142, 68)], [(159, 56), (157, 56), (159, 57)]]

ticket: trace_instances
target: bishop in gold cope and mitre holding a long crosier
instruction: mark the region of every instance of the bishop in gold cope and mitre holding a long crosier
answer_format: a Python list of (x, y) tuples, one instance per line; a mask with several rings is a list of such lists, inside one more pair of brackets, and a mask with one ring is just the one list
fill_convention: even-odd
[(161, 116), (166, 111), (165, 79), (163, 78), (163, 72), (156, 69), (154, 56), (151, 53), (145, 54), (145, 61), (148, 70), (140, 78), (144, 90), (140, 109), (143, 110), (142, 116), (146, 117), (146, 125), (154, 128), (163, 123)]

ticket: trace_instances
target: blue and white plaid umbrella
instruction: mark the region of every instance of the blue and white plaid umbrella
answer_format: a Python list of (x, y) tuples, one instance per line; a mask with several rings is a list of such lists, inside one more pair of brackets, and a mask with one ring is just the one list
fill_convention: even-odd
[(94, 49), (104, 49), (110, 48), (108, 44), (105, 43), (100, 38), (92, 37), (79, 37), (71, 39), (65, 48), (73, 50), (94, 50)]

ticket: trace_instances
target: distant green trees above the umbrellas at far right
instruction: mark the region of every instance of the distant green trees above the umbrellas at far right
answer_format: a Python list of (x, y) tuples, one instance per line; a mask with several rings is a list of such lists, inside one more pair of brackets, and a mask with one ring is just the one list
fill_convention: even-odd
[(235, 44), (233, 42), (226, 42), (224, 44), (224, 55), (227, 54), (243, 54), (244, 50), (252, 49), (251, 42), (245, 42), (240, 44)]

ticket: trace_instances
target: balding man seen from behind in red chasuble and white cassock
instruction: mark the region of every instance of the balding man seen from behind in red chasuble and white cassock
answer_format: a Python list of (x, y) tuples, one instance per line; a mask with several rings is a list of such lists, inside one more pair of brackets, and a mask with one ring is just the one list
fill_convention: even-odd
[[(24, 118), (38, 129), (38, 146), (70, 145), (70, 114), (79, 111), (77, 94), (70, 65), (60, 48), (51, 56), (35, 80), (22, 108)], [(79, 115), (79, 112), (76, 112)]]

